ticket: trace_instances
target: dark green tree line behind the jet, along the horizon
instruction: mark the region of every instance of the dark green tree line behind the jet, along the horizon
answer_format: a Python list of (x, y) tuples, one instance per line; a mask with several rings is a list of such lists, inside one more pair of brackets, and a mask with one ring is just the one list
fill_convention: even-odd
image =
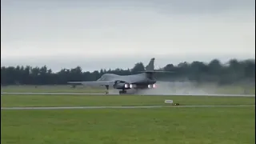
[[(138, 71), (143, 70), (145, 70), (145, 66), (142, 62), (136, 63), (132, 69), (94, 70), (94, 72), (84, 72), (80, 66), (62, 69), (56, 73), (47, 66), (2, 66), (1, 85), (59, 85), (67, 84), (69, 81), (95, 81), (106, 73), (129, 75), (138, 74)], [(218, 59), (209, 63), (181, 62), (178, 65), (168, 64), (158, 70), (172, 71), (170, 74), (156, 74), (155, 78), (161, 81), (215, 82), (218, 84), (255, 83), (255, 59), (242, 61), (230, 59), (225, 64)]]

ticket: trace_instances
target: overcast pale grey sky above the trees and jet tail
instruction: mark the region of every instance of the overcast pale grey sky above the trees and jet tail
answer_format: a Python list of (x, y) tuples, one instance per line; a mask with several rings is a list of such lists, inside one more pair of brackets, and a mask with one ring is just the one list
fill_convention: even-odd
[(255, 57), (254, 0), (2, 0), (1, 65), (131, 68)]

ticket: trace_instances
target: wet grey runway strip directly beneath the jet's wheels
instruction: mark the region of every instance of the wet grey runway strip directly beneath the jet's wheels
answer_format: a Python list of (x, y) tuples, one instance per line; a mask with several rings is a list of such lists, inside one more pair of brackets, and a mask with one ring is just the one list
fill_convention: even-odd
[[(102, 93), (7, 93), (2, 92), (1, 94), (18, 94), (18, 95), (119, 95), (119, 94), (102, 94)], [(122, 94), (128, 95), (128, 94)], [(120, 96), (122, 96), (120, 95)], [(129, 94), (132, 95), (132, 94)], [(137, 94), (136, 94), (137, 95)], [(140, 95), (140, 94), (138, 94)], [(214, 96), (214, 97), (255, 97), (255, 94), (143, 94), (141, 96)], [(1, 95), (2, 96), (2, 95)]]

